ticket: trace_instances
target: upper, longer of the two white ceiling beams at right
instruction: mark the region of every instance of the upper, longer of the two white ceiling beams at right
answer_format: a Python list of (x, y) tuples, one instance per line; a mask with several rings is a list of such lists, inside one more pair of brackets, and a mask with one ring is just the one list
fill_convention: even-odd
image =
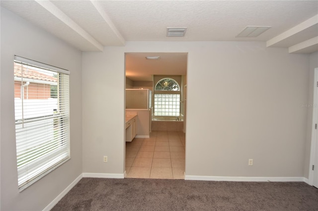
[(298, 24), (297, 26), (283, 32), (282, 34), (268, 40), (266, 42), (266, 47), (270, 47), (273, 46), (275, 44), (278, 44), (281, 41), (284, 41), (294, 35), (296, 35), (299, 32), (302, 32), (312, 26), (314, 26), (315, 24), (318, 24), (318, 15), (315, 15), (314, 17)]

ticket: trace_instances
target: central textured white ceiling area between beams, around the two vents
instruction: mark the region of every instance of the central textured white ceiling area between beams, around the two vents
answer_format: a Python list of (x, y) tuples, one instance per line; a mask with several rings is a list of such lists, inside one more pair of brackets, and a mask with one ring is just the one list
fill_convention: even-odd
[[(317, 1), (101, 1), (126, 41), (170, 41), (166, 27), (188, 27), (178, 41), (267, 41), (318, 14)], [(271, 26), (236, 38), (246, 26)]]

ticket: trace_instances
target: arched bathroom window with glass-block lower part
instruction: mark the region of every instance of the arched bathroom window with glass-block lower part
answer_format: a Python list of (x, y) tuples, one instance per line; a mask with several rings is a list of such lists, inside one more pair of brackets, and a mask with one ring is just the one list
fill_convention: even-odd
[(172, 78), (163, 78), (155, 86), (154, 115), (180, 115), (180, 86)]

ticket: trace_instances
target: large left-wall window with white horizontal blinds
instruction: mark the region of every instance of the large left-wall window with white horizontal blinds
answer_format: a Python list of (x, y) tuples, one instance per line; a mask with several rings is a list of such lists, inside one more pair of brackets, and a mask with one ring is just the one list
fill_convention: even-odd
[[(71, 158), (70, 71), (17, 55), (14, 56), (14, 63), (21, 65), (21, 98), (15, 99), (14, 103), (18, 189), (21, 192)], [(37, 103), (41, 100), (35, 100), (35, 103), (32, 102), (31, 104), (31, 101), (24, 99), (22, 85), (25, 82), (23, 78), (27, 80), (27, 77), (23, 77), (23, 66), (57, 74), (58, 88), (56, 91), (57, 100), (55, 101), (57, 102), (57, 109), (50, 111), (51, 114), (41, 111), (41, 108), (46, 107), (42, 105), (43, 103)], [(14, 77), (14, 81), (18, 80), (19, 77)], [(50, 99), (48, 99), (49, 101)], [(30, 103), (30, 105), (27, 103)], [(32, 111), (36, 109), (38, 109), (38, 112)], [(23, 115), (23, 112), (27, 111), (30, 115)], [(19, 112), (22, 112), (22, 114)], [(45, 115), (39, 115), (40, 112)], [(17, 119), (19, 117), (21, 119)], [(43, 129), (49, 129), (49, 131), (43, 135)], [(39, 134), (38, 137), (40, 138), (34, 138), (33, 134)], [(43, 153), (39, 155), (39, 152)]]

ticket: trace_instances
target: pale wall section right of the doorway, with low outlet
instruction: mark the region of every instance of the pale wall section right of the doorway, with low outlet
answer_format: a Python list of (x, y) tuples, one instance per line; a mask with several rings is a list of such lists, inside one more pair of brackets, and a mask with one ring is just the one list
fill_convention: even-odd
[(186, 175), (303, 176), (307, 55), (219, 42), (188, 63)]

